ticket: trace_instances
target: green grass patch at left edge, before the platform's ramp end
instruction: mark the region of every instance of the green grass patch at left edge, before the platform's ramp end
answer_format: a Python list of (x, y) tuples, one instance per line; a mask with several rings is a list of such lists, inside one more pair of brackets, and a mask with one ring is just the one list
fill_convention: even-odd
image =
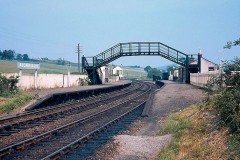
[(0, 97), (0, 113), (9, 113), (13, 110), (18, 110), (27, 103), (29, 103), (34, 97), (26, 94), (26, 93), (17, 93), (15, 95), (11, 95), (9, 97)]

